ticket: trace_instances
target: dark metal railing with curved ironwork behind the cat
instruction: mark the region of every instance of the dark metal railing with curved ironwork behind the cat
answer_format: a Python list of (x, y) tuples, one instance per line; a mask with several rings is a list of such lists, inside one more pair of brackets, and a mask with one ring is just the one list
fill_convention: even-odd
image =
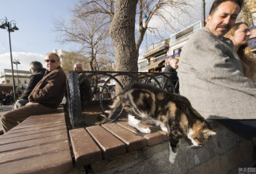
[[(78, 74), (85, 73), (86, 76), (83, 79), (78, 81)], [(102, 111), (105, 110), (104, 103), (105, 101), (111, 101), (113, 97), (116, 96), (115, 90), (109, 91), (108, 87), (119, 86), (123, 89), (125, 86), (118, 80), (118, 77), (128, 77), (130, 79), (129, 84), (133, 82), (140, 82), (143, 84), (150, 84), (161, 89), (167, 90), (168, 92), (173, 93), (175, 91), (174, 85), (171, 83), (171, 80), (168, 78), (171, 73), (145, 73), (145, 72), (112, 72), (112, 71), (69, 71), (67, 75), (67, 111), (71, 121), (72, 128), (81, 128), (84, 126), (84, 121), (81, 114), (81, 98), (80, 98), (80, 84), (86, 80), (97, 79), (95, 77), (105, 77), (105, 82), (102, 84), (92, 84), (92, 88), (97, 87), (99, 89), (98, 93), (93, 95), (98, 95), (98, 97), (93, 97), (92, 101), (99, 102), (102, 107)], [(113, 83), (114, 80), (114, 83)], [(177, 85), (177, 84), (176, 84)], [(175, 85), (175, 86), (176, 86)], [(107, 90), (107, 94), (106, 93)], [(120, 113), (121, 114), (121, 113)]]

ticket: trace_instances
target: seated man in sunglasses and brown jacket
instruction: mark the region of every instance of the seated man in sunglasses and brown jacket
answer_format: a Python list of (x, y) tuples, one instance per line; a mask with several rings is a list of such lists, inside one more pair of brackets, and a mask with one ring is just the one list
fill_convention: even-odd
[(47, 53), (44, 61), (47, 71), (29, 94), (29, 104), (6, 112), (0, 118), (4, 133), (19, 125), (30, 115), (57, 111), (57, 107), (61, 104), (66, 90), (66, 75), (60, 67), (60, 57), (56, 53)]

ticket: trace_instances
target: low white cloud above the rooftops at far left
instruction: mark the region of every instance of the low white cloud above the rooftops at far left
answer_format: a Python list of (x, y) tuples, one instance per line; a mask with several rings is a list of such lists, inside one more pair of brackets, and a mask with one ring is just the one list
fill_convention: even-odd
[[(43, 64), (44, 67), (44, 55), (38, 53), (25, 53), (25, 52), (13, 52), (12, 61), (19, 60), (18, 70), (29, 70), (29, 63), (36, 60)], [(16, 64), (12, 64), (13, 69), (16, 70)], [(0, 70), (12, 69), (10, 53), (0, 54)]]

